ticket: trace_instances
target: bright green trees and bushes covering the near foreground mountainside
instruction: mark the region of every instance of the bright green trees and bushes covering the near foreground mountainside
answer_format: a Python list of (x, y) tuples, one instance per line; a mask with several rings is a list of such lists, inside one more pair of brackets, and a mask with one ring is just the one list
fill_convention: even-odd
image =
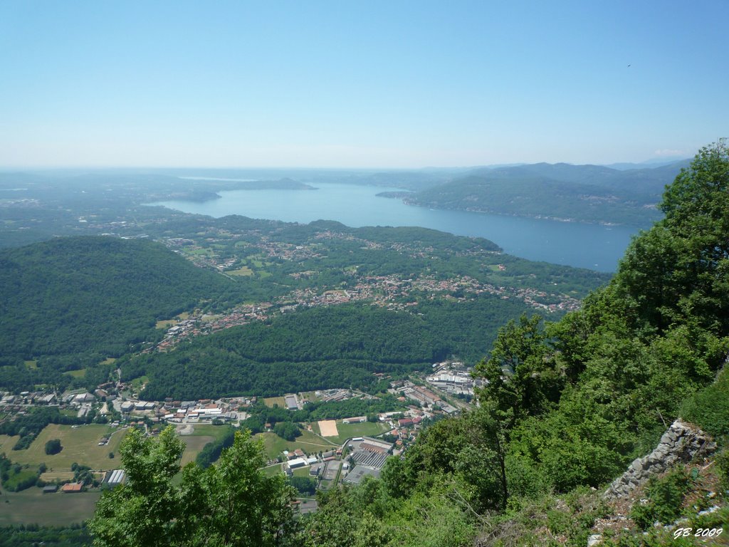
[[(652, 481), (645, 503), (636, 502), (629, 518), (600, 540), (624, 547), (706, 544), (690, 534), (673, 538), (663, 524), (685, 516), (682, 527), (715, 532), (729, 519), (729, 150), (723, 141), (698, 153), (667, 188), (661, 207), (665, 219), (633, 241), (612, 282), (580, 311), (547, 323), (524, 315), (504, 326), (476, 368), (489, 381), (478, 395), (480, 408), (432, 424), (405, 457), (388, 460), (380, 480), (320, 494), (313, 515), (287, 520), (273, 503), (285, 495), (281, 486), (250, 500), (255, 511), (266, 500), (272, 505), (262, 509), (268, 528), (248, 542), (582, 547), (593, 524), (614, 510), (601, 489), (655, 446), (666, 422), (682, 417), (714, 435), (718, 456), (711, 465), (679, 465)], [(255, 451), (247, 438), (224, 452), (219, 471), (203, 476), (186, 469), (180, 486), (164, 479), (174, 466), (164, 470), (181, 448), (173, 444), (165, 459), (161, 447), (170, 439), (141, 442), (125, 449), (125, 464), (160, 470), (158, 484), (169, 486), (155, 491), (163, 495), (156, 506), (170, 512), (135, 521), (135, 537), (156, 532), (165, 545), (198, 546), (209, 544), (201, 533), (215, 532), (215, 545), (238, 545), (249, 521), (235, 524), (240, 506), (226, 502), (249, 500), (254, 490), (242, 485), (262, 478), (243, 479), (240, 492), (215, 481), (241, 454)], [(149, 465), (152, 459), (160, 465)], [(138, 544), (113, 532), (120, 511), (132, 515), (145, 506), (145, 484), (132, 482), (126, 495), (119, 491), (100, 504), (91, 527), (99, 546)], [(185, 512), (187, 506), (203, 513)], [(206, 507), (222, 511), (213, 510), (211, 519)]]

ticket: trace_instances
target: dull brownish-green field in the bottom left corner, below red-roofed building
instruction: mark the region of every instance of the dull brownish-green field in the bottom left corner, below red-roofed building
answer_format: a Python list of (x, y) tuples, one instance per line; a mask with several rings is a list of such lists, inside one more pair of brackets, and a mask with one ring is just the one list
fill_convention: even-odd
[(66, 526), (80, 523), (93, 516), (100, 495), (101, 492), (43, 494), (41, 489), (35, 487), (23, 492), (3, 492), (0, 496), (0, 526)]

